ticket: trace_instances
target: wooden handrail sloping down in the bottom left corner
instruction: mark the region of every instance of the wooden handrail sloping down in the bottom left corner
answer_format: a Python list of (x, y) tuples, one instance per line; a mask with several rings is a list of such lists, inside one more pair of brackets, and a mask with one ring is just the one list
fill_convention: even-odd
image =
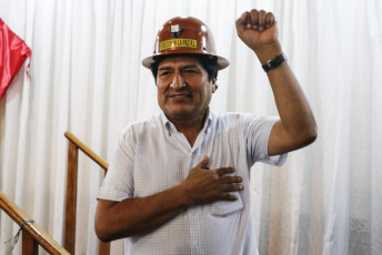
[(0, 207), (21, 227), (22, 255), (38, 255), (39, 245), (49, 254), (69, 254), (2, 191), (0, 191)]

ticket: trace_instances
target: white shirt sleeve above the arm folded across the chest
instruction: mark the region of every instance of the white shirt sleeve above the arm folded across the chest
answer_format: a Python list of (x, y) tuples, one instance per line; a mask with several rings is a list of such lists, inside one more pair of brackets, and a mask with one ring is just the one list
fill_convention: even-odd
[(97, 198), (122, 201), (133, 196), (134, 137), (131, 131), (120, 134), (107, 176)]

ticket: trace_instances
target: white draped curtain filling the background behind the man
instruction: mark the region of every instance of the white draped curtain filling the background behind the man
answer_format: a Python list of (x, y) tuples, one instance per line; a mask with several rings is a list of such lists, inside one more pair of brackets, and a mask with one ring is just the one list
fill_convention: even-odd
[[(0, 0), (0, 17), (32, 50), (0, 101), (0, 188), (63, 241), (70, 131), (110, 157), (119, 131), (159, 112), (141, 60), (160, 26), (175, 16), (203, 20), (218, 52), (215, 111), (277, 115), (254, 53), (234, 21), (272, 11), (280, 40), (319, 125), (314, 144), (282, 167), (252, 170), (261, 254), (382, 254), (382, 3), (379, 0)], [(77, 254), (96, 254), (96, 194), (102, 171), (81, 154)], [(0, 214), (0, 254), (18, 226)], [(13, 254), (21, 253), (19, 243)], [(121, 241), (112, 254), (122, 254)], [(41, 252), (43, 253), (43, 252)]]

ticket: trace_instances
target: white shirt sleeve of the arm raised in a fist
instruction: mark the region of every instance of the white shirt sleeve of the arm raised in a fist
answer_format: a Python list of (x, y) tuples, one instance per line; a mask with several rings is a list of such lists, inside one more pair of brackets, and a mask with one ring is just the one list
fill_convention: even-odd
[(286, 153), (274, 156), (268, 154), (269, 136), (278, 120), (279, 118), (273, 116), (247, 116), (245, 136), (251, 165), (258, 161), (278, 166), (285, 163)]

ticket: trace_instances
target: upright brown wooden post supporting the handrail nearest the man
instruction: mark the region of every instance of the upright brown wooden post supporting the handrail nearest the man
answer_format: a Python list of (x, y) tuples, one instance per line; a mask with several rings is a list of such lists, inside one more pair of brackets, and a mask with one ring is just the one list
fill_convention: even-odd
[(69, 142), (67, 176), (66, 231), (63, 247), (74, 255), (76, 247), (76, 212), (77, 212), (77, 176), (78, 147)]

